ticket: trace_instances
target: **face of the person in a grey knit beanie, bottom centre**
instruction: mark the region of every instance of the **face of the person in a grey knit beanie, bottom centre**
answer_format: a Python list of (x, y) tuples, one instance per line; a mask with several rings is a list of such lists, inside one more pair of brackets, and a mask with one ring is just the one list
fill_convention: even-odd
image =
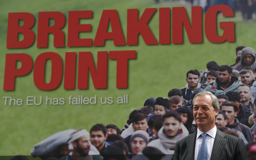
[(143, 138), (141, 137), (133, 138), (131, 143), (131, 150), (133, 155), (143, 151), (145, 147), (146, 147), (146, 142)]

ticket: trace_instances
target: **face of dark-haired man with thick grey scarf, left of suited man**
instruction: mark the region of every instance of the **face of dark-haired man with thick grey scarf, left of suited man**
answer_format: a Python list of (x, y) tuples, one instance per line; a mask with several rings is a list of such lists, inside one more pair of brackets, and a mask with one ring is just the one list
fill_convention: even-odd
[(181, 129), (182, 122), (179, 122), (174, 117), (167, 117), (164, 119), (163, 126), (167, 136), (175, 137)]

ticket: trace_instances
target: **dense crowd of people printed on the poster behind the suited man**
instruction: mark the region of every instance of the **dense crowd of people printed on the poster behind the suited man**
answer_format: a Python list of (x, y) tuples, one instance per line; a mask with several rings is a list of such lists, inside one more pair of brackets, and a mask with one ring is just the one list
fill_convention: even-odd
[(113, 124), (60, 131), (34, 145), (31, 155), (42, 160), (173, 159), (177, 141), (198, 132), (194, 97), (209, 91), (218, 99), (214, 125), (241, 138), (250, 158), (256, 155), (255, 51), (238, 46), (236, 56), (240, 59), (231, 66), (211, 61), (206, 71), (188, 71), (184, 88), (171, 89), (168, 98), (146, 99), (144, 107), (129, 114), (121, 131)]

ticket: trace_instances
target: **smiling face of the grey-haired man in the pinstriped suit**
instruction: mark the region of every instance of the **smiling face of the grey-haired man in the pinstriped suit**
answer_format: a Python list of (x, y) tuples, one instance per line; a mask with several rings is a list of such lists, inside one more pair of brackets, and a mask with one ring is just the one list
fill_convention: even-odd
[(215, 126), (215, 116), (217, 116), (217, 114), (218, 109), (214, 110), (209, 95), (197, 96), (194, 99), (194, 120), (202, 132), (207, 132)]

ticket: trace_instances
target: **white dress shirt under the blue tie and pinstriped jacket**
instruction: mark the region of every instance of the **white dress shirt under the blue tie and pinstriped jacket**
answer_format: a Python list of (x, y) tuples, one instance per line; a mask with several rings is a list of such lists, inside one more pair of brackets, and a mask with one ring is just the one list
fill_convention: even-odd
[[(196, 137), (196, 146), (195, 146), (194, 160), (197, 159), (197, 154), (198, 154), (198, 151), (199, 151), (199, 149), (201, 147), (201, 144), (202, 144), (202, 141), (203, 141), (203, 137), (201, 136), (202, 133), (204, 133), (204, 132), (200, 131), (197, 128), (197, 137)], [(212, 155), (212, 149), (213, 149), (213, 144), (214, 144), (215, 136), (216, 136), (216, 133), (217, 133), (216, 125), (211, 130), (209, 130), (206, 133), (208, 134), (206, 136), (208, 160), (210, 160), (210, 157)]]

